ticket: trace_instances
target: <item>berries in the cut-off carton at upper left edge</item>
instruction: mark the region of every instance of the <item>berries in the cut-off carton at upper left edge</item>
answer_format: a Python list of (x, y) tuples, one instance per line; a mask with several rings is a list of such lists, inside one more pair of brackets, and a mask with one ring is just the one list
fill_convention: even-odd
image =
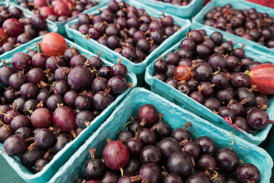
[(0, 6), (0, 55), (47, 32), (47, 21), (39, 14), (23, 18), (22, 10)]

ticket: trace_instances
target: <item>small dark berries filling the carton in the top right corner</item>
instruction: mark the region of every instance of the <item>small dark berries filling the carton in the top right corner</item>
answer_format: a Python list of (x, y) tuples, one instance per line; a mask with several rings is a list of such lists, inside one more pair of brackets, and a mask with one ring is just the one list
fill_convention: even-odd
[(236, 10), (232, 5), (217, 6), (204, 16), (205, 25), (253, 40), (266, 47), (274, 47), (274, 18), (255, 8)]

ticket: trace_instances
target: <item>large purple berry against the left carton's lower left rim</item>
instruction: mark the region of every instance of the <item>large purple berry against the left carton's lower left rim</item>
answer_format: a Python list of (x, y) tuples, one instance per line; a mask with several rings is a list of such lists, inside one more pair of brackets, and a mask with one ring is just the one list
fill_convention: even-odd
[(27, 150), (27, 141), (23, 136), (12, 135), (5, 139), (3, 147), (8, 156), (16, 156)]

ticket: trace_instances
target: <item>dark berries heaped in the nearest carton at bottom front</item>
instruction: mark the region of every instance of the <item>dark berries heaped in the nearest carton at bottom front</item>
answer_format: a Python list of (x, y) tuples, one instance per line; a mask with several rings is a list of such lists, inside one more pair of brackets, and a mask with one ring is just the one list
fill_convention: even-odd
[(209, 136), (193, 141), (190, 122), (171, 132), (162, 117), (154, 106), (141, 106), (128, 130), (119, 132), (116, 141), (108, 141), (101, 159), (90, 149), (91, 160), (79, 182), (260, 182), (259, 169), (240, 164), (232, 147), (217, 149)]

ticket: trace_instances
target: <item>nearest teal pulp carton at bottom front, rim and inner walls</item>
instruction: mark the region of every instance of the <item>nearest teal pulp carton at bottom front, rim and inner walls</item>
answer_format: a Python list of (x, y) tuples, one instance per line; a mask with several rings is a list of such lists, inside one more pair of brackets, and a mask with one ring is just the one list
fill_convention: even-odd
[[(190, 121), (192, 125), (188, 128), (188, 131), (191, 132), (193, 138), (210, 136), (215, 141), (218, 149), (231, 147), (233, 138), (231, 133), (197, 117), (187, 110), (179, 108), (179, 106), (176, 106), (174, 103), (171, 103), (159, 95), (151, 93), (149, 90), (136, 88), (132, 90), (105, 123), (88, 138), (86, 143), (71, 156), (49, 182), (77, 182), (76, 176), (82, 178), (84, 164), (90, 160), (88, 149), (96, 148), (95, 156), (101, 158), (103, 148), (107, 144), (107, 139), (115, 140), (117, 134), (123, 130), (123, 127), (130, 121), (131, 117), (137, 116), (140, 106), (147, 103), (155, 106), (158, 112), (164, 114), (163, 120), (171, 125), (172, 130), (178, 127), (184, 127), (186, 121)], [(236, 151), (243, 162), (255, 164), (256, 167), (260, 169), (261, 182), (269, 182), (273, 161), (264, 149), (235, 136), (233, 150)]]

